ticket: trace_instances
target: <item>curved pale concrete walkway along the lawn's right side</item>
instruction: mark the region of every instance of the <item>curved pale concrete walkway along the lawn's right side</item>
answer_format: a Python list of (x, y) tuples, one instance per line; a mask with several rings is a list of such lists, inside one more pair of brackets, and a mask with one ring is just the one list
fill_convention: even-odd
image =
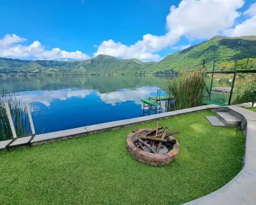
[(256, 112), (236, 106), (221, 109), (242, 120), (241, 127), (246, 137), (243, 168), (224, 187), (197, 200), (189, 201), (186, 205), (256, 204)]

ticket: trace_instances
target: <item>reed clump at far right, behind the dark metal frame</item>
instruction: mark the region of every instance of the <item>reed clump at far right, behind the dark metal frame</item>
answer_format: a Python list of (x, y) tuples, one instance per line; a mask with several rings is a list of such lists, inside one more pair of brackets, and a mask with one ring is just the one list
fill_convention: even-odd
[[(232, 94), (231, 104), (241, 104), (252, 102), (254, 90), (256, 88), (256, 75), (236, 77), (234, 92)], [(225, 101), (228, 103), (230, 95), (225, 95)]]

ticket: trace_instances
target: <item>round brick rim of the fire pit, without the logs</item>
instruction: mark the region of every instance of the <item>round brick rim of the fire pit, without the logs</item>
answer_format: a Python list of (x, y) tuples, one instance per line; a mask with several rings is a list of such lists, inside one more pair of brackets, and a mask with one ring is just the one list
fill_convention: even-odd
[(173, 148), (169, 148), (168, 150), (165, 149), (166, 153), (164, 153), (164, 151), (162, 153), (156, 154), (149, 153), (149, 151), (143, 151), (142, 149), (135, 146), (135, 141), (141, 137), (145, 137), (146, 134), (152, 130), (153, 129), (138, 129), (137, 131), (130, 133), (126, 139), (126, 145), (129, 153), (132, 154), (132, 156), (134, 156), (134, 158), (139, 162), (146, 164), (151, 164), (154, 166), (170, 164), (171, 160), (176, 159), (179, 154), (179, 143), (173, 136), (169, 136), (168, 138), (170, 140), (175, 139), (176, 144), (173, 145)]

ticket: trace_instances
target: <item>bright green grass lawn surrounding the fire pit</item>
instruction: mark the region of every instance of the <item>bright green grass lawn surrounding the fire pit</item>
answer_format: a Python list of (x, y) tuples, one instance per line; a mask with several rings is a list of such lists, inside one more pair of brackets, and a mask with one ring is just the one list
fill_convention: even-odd
[(0, 155), (1, 204), (181, 204), (227, 184), (242, 168), (241, 129), (213, 127), (209, 110), (160, 120), (180, 143), (165, 167), (137, 162), (127, 135), (156, 121)]

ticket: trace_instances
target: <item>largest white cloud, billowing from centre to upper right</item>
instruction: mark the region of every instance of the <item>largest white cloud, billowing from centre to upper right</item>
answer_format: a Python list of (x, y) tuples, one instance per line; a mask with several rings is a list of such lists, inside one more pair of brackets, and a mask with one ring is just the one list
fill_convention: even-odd
[(160, 56), (154, 52), (175, 45), (181, 36), (205, 39), (231, 27), (241, 15), (237, 10), (243, 4), (243, 0), (183, 0), (178, 7), (171, 6), (165, 35), (146, 34), (129, 46), (111, 39), (103, 41), (94, 56), (107, 54), (123, 59), (159, 60)]

